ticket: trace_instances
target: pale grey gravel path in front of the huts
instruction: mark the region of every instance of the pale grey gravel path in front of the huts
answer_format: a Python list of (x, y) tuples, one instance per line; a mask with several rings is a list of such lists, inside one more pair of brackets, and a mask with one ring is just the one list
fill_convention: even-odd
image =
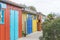
[(27, 35), (26, 37), (22, 37), (18, 40), (39, 40), (39, 37), (42, 37), (42, 36), (43, 36), (43, 32), (37, 31), (37, 32)]

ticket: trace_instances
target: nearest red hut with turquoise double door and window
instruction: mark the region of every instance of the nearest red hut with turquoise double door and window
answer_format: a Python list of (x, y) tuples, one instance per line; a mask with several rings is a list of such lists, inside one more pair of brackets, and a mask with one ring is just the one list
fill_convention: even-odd
[(18, 40), (22, 37), (22, 6), (0, 0), (0, 40)]

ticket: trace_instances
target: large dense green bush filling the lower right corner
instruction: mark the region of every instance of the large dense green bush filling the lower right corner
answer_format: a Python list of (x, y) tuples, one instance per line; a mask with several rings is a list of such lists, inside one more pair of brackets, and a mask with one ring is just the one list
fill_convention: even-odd
[(44, 40), (60, 40), (60, 18), (43, 24)]

